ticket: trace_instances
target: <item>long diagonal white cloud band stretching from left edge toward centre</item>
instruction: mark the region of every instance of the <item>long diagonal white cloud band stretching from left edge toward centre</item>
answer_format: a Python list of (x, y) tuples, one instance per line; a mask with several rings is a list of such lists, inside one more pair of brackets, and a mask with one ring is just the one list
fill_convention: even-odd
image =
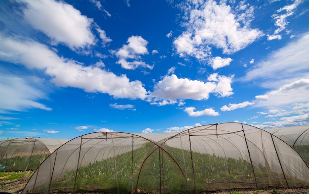
[[(47, 46), (32, 40), (21, 41), (0, 37), (0, 60), (39, 69), (61, 87), (77, 87), (86, 92), (108, 93), (115, 98), (145, 99), (146, 89), (139, 80), (97, 67), (83, 66), (77, 61), (61, 58)], [(96, 84), (93, 84), (96, 83)]]

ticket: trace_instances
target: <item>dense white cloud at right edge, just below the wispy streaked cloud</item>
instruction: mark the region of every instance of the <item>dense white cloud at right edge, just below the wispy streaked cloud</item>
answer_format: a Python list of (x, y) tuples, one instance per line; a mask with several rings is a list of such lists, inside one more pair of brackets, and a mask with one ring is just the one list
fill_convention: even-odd
[(280, 107), (309, 102), (309, 79), (299, 79), (265, 95), (256, 96), (256, 107)]

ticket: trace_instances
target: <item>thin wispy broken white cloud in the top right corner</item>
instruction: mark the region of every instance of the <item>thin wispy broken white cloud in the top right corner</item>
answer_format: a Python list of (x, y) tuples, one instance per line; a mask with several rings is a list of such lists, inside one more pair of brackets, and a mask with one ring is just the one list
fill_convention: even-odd
[(276, 13), (272, 14), (272, 18), (275, 20), (274, 25), (278, 28), (274, 31), (273, 35), (268, 35), (268, 40), (272, 39), (281, 39), (281, 36), (278, 35), (282, 32), (288, 25), (287, 17), (290, 17), (294, 14), (297, 6), (302, 2), (302, 0), (295, 0), (292, 4), (285, 5), (284, 7), (276, 10)]

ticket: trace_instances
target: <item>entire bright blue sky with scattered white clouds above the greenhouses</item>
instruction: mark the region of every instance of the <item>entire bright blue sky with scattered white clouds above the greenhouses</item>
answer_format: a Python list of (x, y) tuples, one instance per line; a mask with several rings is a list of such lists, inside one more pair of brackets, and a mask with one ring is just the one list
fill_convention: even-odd
[(309, 125), (308, 0), (4, 0), (0, 139)]

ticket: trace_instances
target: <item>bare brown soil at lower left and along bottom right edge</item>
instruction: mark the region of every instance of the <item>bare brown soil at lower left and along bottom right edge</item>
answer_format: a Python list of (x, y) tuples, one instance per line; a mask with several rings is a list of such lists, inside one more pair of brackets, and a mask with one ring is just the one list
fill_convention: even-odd
[[(30, 177), (31, 173), (28, 173), (28, 175), (26, 175), (25, 177), (10, 181), (2, 180), (3, 177), (0, 177), (0, 194), (20, 194), (23, 188), (26, 186)], [(212, 191), (212, 192), (205, 192), (202, 194), (309, 194), (309, 188), (297, 188), (297, 189), (277, 188), (277, 189), (252, 189), (252, 190), (239, 189), (239, 190)]]

